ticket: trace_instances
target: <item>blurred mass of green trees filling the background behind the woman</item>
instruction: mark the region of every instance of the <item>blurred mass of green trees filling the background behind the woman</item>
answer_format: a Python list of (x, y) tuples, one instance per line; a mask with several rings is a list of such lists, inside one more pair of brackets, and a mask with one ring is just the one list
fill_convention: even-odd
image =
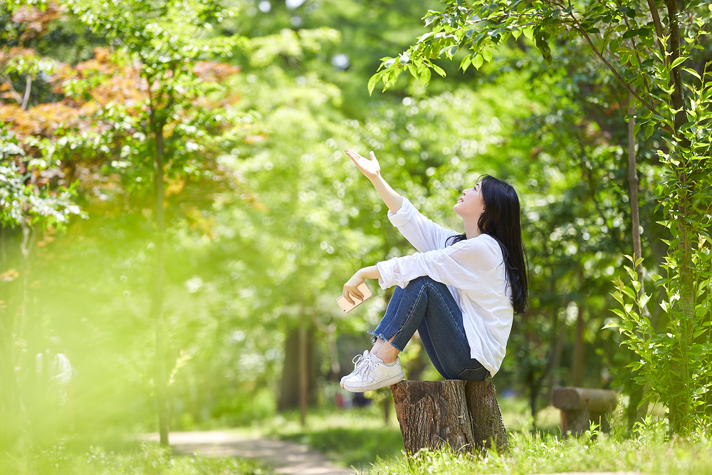
[[(341, 286), (412, 252), (346, 148), (373, 150), (395, 189), (454, 229), (461, 189), (485, 173), (511, 182), (531, 300), (494, 382), (532, 416), (556, 385), (582, 385), (622, 390), (639, 417), (637, 357), (603, 329), (632, 253), (627, 90), (584, 46), (553, 41), (545, 66), (519, 36), (478, 69), (435, 60), (446, 80), (402, 75), (370, 96), (379, 59), (426, 31), (428, 8), (0, 4), (6, 436), (156, 430), (156, 410), (165, 432), (333, 406), (389, 295), (372, 288), (343, 315)], [(670, 237), (660, 132), (637, 144), (649, 273)], [(419, 348), (407, 377), (437, 377)]]

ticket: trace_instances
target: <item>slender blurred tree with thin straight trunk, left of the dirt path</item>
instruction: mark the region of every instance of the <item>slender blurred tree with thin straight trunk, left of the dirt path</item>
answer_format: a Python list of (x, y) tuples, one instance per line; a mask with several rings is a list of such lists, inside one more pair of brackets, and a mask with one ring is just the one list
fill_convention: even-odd
[[(192, 157), (191, 147), (199, 150), (195, 138), (215, 127), (220, 112), (197, 107), (206, 95), (219, 89), (214, 80), (200, 77), (201, 58), (226, 55), (235, 39), (210, 37), (206, 25), (219, 24), (232, 9), (203, 1), (144, 2), (108, 4), (102, 1), (70, 0), (73, 13), (95, 32), (103, 32), (125, 51), (125, 61), (132, 62), (140, 100), (133, 106), (103, 105), (99, 118), (115, 127), (142, 131), (128, 140), (126, 165), (152, 167), (155, 224), (155, 271), (152, 317), (156, 328), (156, 379), (159, 433), (162, 444), (168, 444), (168, 406), (166, 337), (164, 328), (164, 234), (166, 230), (164, 199), (165, 180), (181, 174), (203, 172), (204, 164)], [(203, 69), (205, 71), (205, 68)], [(216, 68), (217, 75), (234, 73)], [(75, 85), (69, 85), (72, 90)], [(87, 84), (80, 85), (86, 87)], [(75, 89), (80, 91), (81, 88)], [(118, 120), (117, 120), (118, 119)], [(120, 135), (124, 135), (120, 132)], [(104, 137), (105, 139), (108, 138)], [(122, 137), (125, 140), (126, 136)], [(114, 142), (113, 137), (108, 140)]]

